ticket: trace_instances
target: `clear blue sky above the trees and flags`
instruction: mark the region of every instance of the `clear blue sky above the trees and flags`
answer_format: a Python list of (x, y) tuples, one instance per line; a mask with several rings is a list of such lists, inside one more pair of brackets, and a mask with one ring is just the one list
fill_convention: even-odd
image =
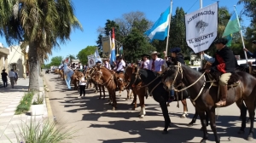
[[(61, 44), (60, 49), (53, 49), (53, 54), (49, 55), (50, 59), (54, 56), (66, 57), (68, 54), (77, 55), (81, 49), (89, 45), (96, 45), (97, 29), (104, 26), (106, 20), (115, 20), (120, 18), (122, 14), (131, 11), (141, 11), (146, 14), (148, 20), (156, 21), (160, 14), (170, 6), (171, 0), (72, 0), (75, 8), (75, 14), (83, 26), (84, 31), (74, 30), (71, 33), (70, 40), (65, 44)], [(216, 3), (215, 0), (202, 0), (203, 7)], [(239, 14), (242, 5), (237, 5), (238, 0), (219, 0), (219, 7), (225, 6), (230, 12), (234, 11), (236, 5)], [(186, 13), (194, 12), (200, 9), (200, 0), (173, 0), (172, 14), (177, 7), (182, 7)], [(243, 18), (244, 26), (249, 25), (249, 20)], [(170, 33), (172, 34), (172, 33)], [(5, 39), (0, 37), (0, 43), (8, 47)], [(124, 48), (125, 49), (125, 48)]]

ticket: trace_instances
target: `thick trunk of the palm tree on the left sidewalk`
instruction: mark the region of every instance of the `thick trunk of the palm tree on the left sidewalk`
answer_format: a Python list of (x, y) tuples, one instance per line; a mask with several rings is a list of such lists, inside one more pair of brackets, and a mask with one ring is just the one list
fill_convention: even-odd
[(38, 91), (38, 45), (36, 42), (29, 43), (28, 50), (29, 62), (29, 91)]

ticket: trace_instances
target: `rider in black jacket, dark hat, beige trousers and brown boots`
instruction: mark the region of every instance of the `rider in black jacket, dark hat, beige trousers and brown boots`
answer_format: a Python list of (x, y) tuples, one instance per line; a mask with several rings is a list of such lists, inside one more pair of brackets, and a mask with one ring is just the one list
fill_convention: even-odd
[(219, 38), (215, 41), (215, 47), (218, 51), (213, 57), (215, 60), (212, 64), (212, 68), (206, 70), (206, 72), (221, 72), (221, 77), (218, 82), (221, 99), (215, 104), (218, 107), (226, 105), (228, 81), (230, 80), (231, 74), (236, 70), (235, 56), (232, 50), (226, 46), (226, 43), (228, 43), (228, 40), (225, 38)]

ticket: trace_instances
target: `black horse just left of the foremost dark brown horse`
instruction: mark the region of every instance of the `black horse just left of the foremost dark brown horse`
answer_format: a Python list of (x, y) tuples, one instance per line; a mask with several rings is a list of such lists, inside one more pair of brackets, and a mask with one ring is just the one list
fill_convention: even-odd
[[(158, 72), (152, 72), (147, 69), (139, 69), (138, 66), (135, 66), (132, 71), (133, 75), (131, 77), (131, 85), (133, 88), (137, 88), (139, 83), (144, 83), (148, 86), (148, 92), (153, 95), (155, 101), (160, 103), (160, 107), (165, 118), (165, 128), (163, 134), (167, 134), (168, 127), (170, 126), (171, 119), (168, 114), (168, 108), (166, 102), (169, 100), (169, 92), (166, 91), (163, 87), (162, 75), (159, 75)], [(187, 91), (177, 94), (177, 100), (183, 100), (189, 97)]]

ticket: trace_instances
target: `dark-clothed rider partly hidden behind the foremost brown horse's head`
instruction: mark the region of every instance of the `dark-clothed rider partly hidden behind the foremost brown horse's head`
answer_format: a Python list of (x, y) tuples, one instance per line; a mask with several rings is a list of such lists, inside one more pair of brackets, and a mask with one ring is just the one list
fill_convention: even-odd
[[(165, 57), (166, 57), (166, 64), (167, 64), (167, 66), (177, 65), (177, 62), (180, 62), (181, 64), (185, 65), (184, 56), (181, 53), (181, 49), (180, 48), (173, 48), (173, 49), (170, 50), (170, 52), (171, 52), (171, 57), (167, 57), (166, 56), (166, 51), (164, 52)], [(168, 100), (169, 102), (172, 102), (173, 100), (175, 100), (174, 90), (171, 90), (170, 96), (171, 97)]]

